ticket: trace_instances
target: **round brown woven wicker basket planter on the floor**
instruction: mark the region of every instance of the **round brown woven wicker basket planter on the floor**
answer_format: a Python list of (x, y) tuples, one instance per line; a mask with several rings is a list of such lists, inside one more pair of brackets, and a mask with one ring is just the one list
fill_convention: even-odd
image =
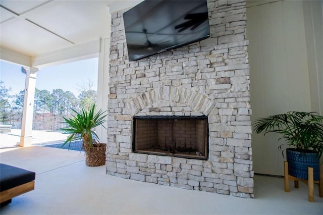
[(106, 143), (93, 143), (84, 146), (85, 164), (89, 167), (99, 167), (105, 165)]

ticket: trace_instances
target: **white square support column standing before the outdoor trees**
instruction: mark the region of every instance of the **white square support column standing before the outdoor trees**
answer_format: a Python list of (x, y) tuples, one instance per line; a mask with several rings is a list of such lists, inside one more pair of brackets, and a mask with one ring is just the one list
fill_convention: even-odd
[(20, 146), (31, 145), (32, 119), (34, 110), (34, 97), (36, 88), (36, 73), (38, 69), (23, 67), (26, 71), (24, 109), (21, 122)]

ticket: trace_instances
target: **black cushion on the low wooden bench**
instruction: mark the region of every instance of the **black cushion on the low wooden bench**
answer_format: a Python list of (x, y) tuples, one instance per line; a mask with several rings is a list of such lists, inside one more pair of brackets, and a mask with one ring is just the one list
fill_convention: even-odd
[(0, 164), (0, 192), (35, 180), (35, 173), (18, 167)]

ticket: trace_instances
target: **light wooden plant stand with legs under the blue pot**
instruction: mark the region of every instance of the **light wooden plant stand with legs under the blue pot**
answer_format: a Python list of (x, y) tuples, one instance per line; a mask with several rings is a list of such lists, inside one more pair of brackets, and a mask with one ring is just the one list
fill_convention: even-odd
[(319, 180), (314, 181), (313, 168), (308, 167), (308, 179), (300, 179), (288, 174), (288, 162), (284, 162), (285, 192), (289, 192), (289, 180), (294, 180), (294, 187), (302, 181), (308, 186), (308, 201), (314, 202), (314, 184), (318, 184), (318, 195), (323, 197), (323, 165), (319, 165)]

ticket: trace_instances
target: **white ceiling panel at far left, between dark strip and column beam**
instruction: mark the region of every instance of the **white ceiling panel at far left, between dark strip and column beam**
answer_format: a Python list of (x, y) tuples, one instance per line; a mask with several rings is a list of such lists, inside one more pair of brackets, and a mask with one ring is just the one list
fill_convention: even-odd
[(54, 47), (66, 47), (71, 44), (26, 20), (20, 19), (11, 21), (10, 25), (1, 26), (0, 43), (7, 48), (19, 50), (30, 56), (47, 52)]

